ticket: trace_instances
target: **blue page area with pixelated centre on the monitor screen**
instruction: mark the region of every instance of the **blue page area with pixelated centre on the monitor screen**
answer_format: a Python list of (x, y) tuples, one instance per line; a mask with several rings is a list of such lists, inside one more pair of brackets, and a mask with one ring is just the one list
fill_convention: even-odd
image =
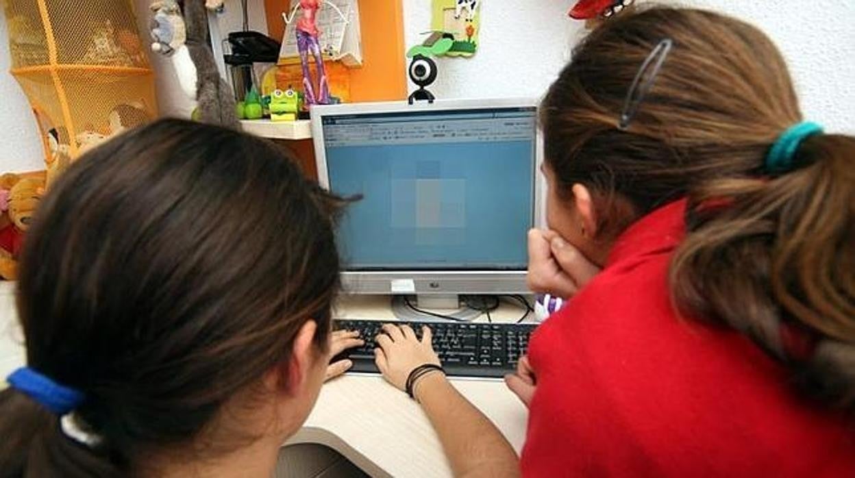
[(339, 226), (349, 270), (525, 269), (532, 140), (327, 146), (330, 189), (361, 194)]

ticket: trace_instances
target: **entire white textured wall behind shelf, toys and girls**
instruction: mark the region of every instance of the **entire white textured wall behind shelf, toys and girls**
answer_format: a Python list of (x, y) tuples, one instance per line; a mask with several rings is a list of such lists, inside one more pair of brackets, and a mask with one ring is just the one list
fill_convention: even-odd
[[(381, 0), (363, 0), (381, 1)], [(642, 1), (642, 0), (639, 0)], [(134, 0), (147, 38), (150, 0)], [(540, 97), (569, 59), (581, 24), (566, 16), (575, 0), (483, 0), (481, 45), (470, 59), (440, 59), (438, 97)], [(805, 116), (829, 131), (855, 133), (855, 2), (846, 0), (682, 0), (750, 21), (769, 33), (790, 62)], [(430, 0), (404, 0), (408, 46), (430, 28)], [(239, 2), (222, 19), (223, 32), (240, 24)], [(527, 8), (523, 8), (523, 6)], [(251, 26), (266, 31), (261, 0), (250, 1)], [(161, 56), (152, 58), (164, 115), (188, 115), (192, 101)], [(0, 16), (0, 172), (43, 168), (41, 143), (26, 98), (9, 71), (6, 22)], [(402, 73), (404, 74), (404, 73)]]

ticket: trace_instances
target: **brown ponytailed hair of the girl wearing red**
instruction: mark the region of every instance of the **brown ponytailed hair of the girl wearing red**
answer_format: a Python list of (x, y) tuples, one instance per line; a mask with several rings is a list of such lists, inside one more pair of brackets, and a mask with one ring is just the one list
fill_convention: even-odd
[[(622, 130), (629, 86), (664, 38), (673, 49)], [(795, 170), (767, 173), (770, 146), (800, 120), (786, 63), (763, 32), (661, 7), (593, 31), (541, 110), (559, 193), (593, 190), (606, 239), (688, 198), (670, 271), (683, 313), (746, 333), (803, 390), (855, 410), (855, 139), (811, 136)], [(791, 350), (781, 343), (791, 330), (816, 346)]]

